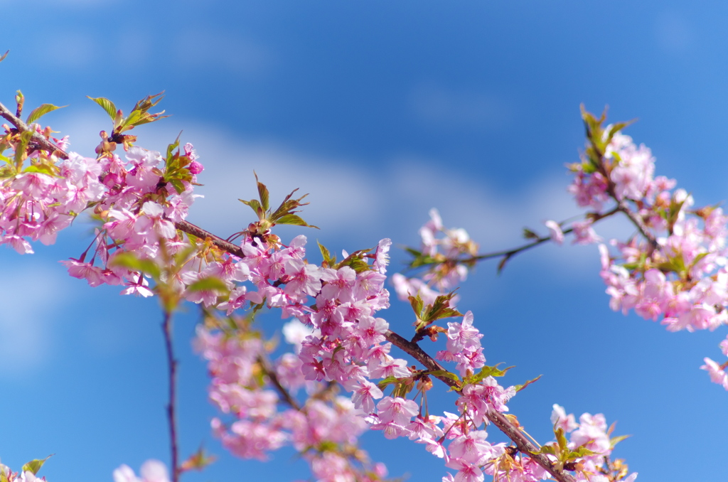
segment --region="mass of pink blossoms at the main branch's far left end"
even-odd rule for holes
[[[6,136],[11,134],[6,126]],[[67,137],[54,141],[61,149],[68,145]],[[34,151],[23,157],[23,146],[16,144],[17,163],[8,162],[0,172],[0,244],[33,253],[28,239],[52,244],[79,213],[93,208],[100,223],[94,245],[79,258],[63,261],[69,274],[92,286],[124,285],[124,294],[150,296],[140,271],[113,260],[120,253],[134,253],[161,262],[160,240],[174,251],[185,245],[174,223],[186,218],[197,197],[193,189],[202,165],[191,144],[183,153],[174,151],[177,146],[170,146],[166,158],[135,146],[122,159],[111,152],[89,158]]]

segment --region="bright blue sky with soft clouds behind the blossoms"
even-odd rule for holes
[[[195,144],[205,199],[190,220],[220,234],[250,222],[236,199],[253,196],[255,169],[274,197],[311,193],[306,220],[322,229],[309,242],[414,245],[437,207],[483,250],[509,248],[522,226],[579,212],[563,167],[583,145],[579,103],[638,118],[627,133],[698,204],[728,198],[724,2],[0,0],[0,11],[0,51],[11,50],[0,100],[20,89],[28,106],[68,104],[44,120],[90,154],[108,125],[84,95],[130,108],[165,90],[173,116],[139,143],[161,150],[182,130]],[[33,256],[0,250],[0,457],[18,467],[55,453],[42,472],[52,482],[167,459],[157,305],[66,275],[57,261],[84,250],[86,229]],[[532,435],[548,439],[553,403],[604,413],[633,435],[616,455],[639,481],[724,480],[706,448],[724,446],[728,394],[697,368],[719,359],[725,333],[666,333],[612,312],[595,247],[547,246],[494,272],[479,266],[460,306],[488,362],[518,366],[506,382],[544,375],[510,403]],[[405,331],[408,310],[393,304],[384,317]],[[187,480],[304,477],[290,452],[272,468],[210,436],[205,368],[187,341],[196,321],[189,307],[177,324],[183,450],[204,442],[221,460]],[[365,441],[392,475],[445,473],[421,446]]]

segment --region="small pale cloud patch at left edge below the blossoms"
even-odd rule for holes
[[[22,269],[6,267],[0,278],[0,373],[23,373],[47,359],[52,320],[63,304],[58,274],[23,259]]]

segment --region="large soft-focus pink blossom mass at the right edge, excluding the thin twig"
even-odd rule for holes
[[[660,320],[669,331],[713,331],[727,324],[728,216],[716,206],[695,208],[687,191],[675,189],[675,180],[655,177],[652,152],[620,133],[624,125],[602,127],[604,116],[588,113],[584,119],[587,149],[582,162],[569,166],[569,191],[593,211],[573,226],[577,240],[596,242],[585,227],[614,213],[628,216],[638,232],[612,240],[611,250],[599,245],[609,306]],[[615,205],[607,209],[610,200]],[[713,382],[728,390],[725,366],[707,358],[705,363]]]

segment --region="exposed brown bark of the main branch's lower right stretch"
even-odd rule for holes
[[[419,361],[419,363],[422,363],[422,365],[424,365],[428,370],[443,370],[443,367],[440,366],[440,363],[438,363],[437,360],[432,358],[430,355],[427,355],[427,352],[420,348],[418,344],[407,341],[402,336],[397,335],[397,333],[393,331],[387,331],[387,334],[385,336],[387,337],[387,341],[402,349],[403,352],[407,353],[415,360]],[[457,382],[455,382],[453,379],[449,379],[446,376],[433,376],[440,380],[440,382],[448,385],[448,387],[454,387],[457,389],[462,388],[459,387]],[[501,414],[499,411],[488,410],[486,412],[486,417],[503,433],[505,433],[505,435],[510,438],[510,440],[513,440],[513,443],[515,443],[515,446],[518,447],[519,451],[534,459],[534,461],[538,465],[543,467],[544,470],[550,473],[556,481],[576,482],[576,479],[573,475],[566,473],[563,470],[559,470],[544,454],[539,454],[539,447],[531,443],[526,435],[524,435],[523,432],[521,432],[521,430],[519,430],[518,427],[515,426],[515,424],[511,423],[505,417],[505,415]]]

